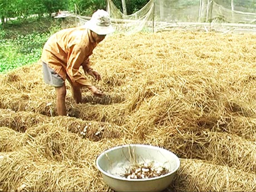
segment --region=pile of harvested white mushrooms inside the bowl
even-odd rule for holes
[[[147,179],[155,178],[169,173],[168,169],[163,166],[153,166],[154,163],[144,163],[131,166],[125,172],[125,178],[127,179]]]

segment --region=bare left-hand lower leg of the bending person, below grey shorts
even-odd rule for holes
[[[55,87],[56,90],[56,108],[58,115],[67,115],[67,109],[65,104],[65,97],[66,97],[66,86],[65,84],[61,87]]]

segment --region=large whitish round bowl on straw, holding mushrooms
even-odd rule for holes
[[[169,170],[168,174],[148,179],[127,179],[121,175],[130,166],[157,163]],[[151,145],[122,145],[102,152],[96,160],[105,183],[115,191],[161,191],[174,179],[180,166],[179,158],[168,150]]]

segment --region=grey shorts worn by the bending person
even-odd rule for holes
[[[48,85],[53,87],[61,87],[64,85],[64,80],[58,75],[52,68],[50,68],[45,62],[43,62],[43,80]]]

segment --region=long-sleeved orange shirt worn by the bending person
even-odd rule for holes
[[[91,86],[79,68],[87,70],[90,67],[89,56],[97,43],[93,40],[91,32],[85,27],[62,29],[53,34],[43,47],[41,60],[63,80],[66,76],[71,81],[84,86]]]

